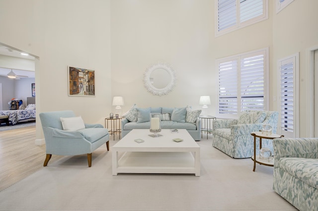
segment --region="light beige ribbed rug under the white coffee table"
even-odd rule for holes
[[[273,167],[257,164],[253,172],[250,158],[230,158],[213,148],[211,139],[197,143],[200,177],[112,176],[111,150],[102,146],[93,153],[90,168],[86,155],[64,157],[1,191],[0,210],[296,210],[272,190]]]

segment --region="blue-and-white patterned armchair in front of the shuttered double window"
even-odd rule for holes
[[[261,130],[263,124],[270,124],[272,133],[276,133],[277,122],[277,111],[241,112],[239,119],[215,120],[212,146],[232,158],[250,158],[254,147],[251,132]],[[272,140],[262,139],[262,147],[273,152]],[[259,141],[256,143],[256,154],[258,152]]]

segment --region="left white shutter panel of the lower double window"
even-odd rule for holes
[[[238,61],[219,64],[219,113],[238,113]]]

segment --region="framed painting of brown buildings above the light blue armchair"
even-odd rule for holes
[[[69,96],[95,96],[95,71],[68,67]]]

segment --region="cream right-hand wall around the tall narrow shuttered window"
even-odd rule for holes
[[[318,1],[295,0],[285,9],[273,14],[273,48],[271,51],[271,93],[278,96],[278,63],[277,60],[299,53],[299,111],[300,111],[300,137],[309,137],[307,128],[310,127],[310,118],[314,115],[307,105],[312,102],[313,96],[308,90],[312,77],[306,49],[318,46]],[[275,10],[275,5],[272,6]],[[274,110],[279,110],[279,102],[272,101]]]

